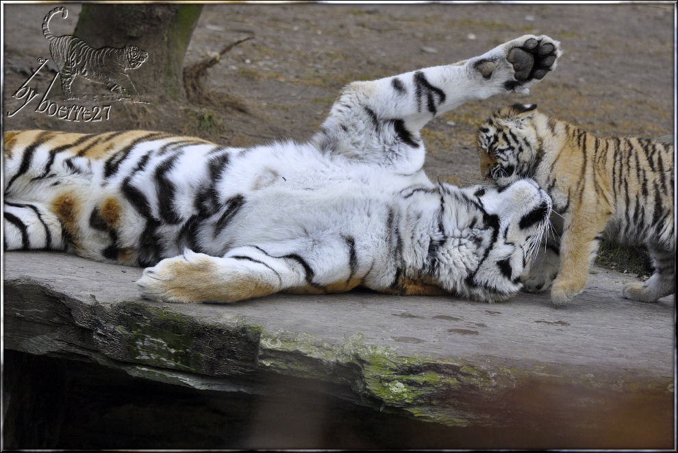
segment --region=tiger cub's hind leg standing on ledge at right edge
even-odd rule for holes
[[[648,244],[655,272],[644,283],[631,282],[623,287],[626,299],[640,302],[657,302],[664,296],[675,292],[676,271],[675,253],[657,245]]]

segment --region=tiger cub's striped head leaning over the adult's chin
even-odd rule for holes
[[[536,156],[531,118],[535,104],[514,104],[492,114],[477,134],[480,173],[504,187],[530,175]]]

